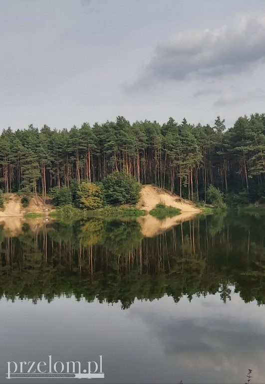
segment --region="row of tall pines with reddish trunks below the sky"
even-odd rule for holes
[[[0,136],[0,188],[5,192],[46,193],[71,180],[101,181],[125,170],[142,183],[155,183],[183,197],[205,199],[209,184],[224,192],[244,192],[256,201],[265,190],[265,114],[239,117],[226,130],[193,125],[172,117],[130,124],[116,121],[83,123],[70,130],[40,130],[29,125]]]

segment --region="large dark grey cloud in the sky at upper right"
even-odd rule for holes
[[[238,15],[231,26],[180,32],[157,45],[127,91],[190,77],[216,78],[254,68],[265,59],[265,15]]]

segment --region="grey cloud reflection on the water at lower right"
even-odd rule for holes
[[[208,296],[208,299],[211,298]],[[251,318],[247,313],[243,315],[242,309],[246,304],[243,301],[236,302],[235,297],[232,299],[235,310],[233,316],[225,313],[227,307],[222,307],[224,304],[218,305],[218,296],[215,295],[214,300],[206,305],[200,299],[198,307],[193,302],[193,311],[183,299],[174,313],[167,312],[165,315],[162,312],[160,316],[152,309],[141,312],[135,310],[134,313],[148,324],[149,332],[159,340],[165,355],[176,360],[176,370],[186,370],[186,375],[191,378],[188,382],[201,382],[198,380],[200,372],[207,375],[207,382],[224,382],[221,381],[224,377],[227,377],[227,382],[234,382],[246,366],[255,370],[255,382],[260,382],[264,377],[265,353],[262,317],[257,315]],[[255,306],[254,303],[252,305]],[[254,309],[256,314],[257,308]],[[221,372],[221,376],[217,376],[217,372]]]

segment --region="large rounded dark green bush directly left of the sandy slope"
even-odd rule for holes
[[[104,199],[108,204],[136,204],[141,184],[126,172],[109,174],[102,182]]]

